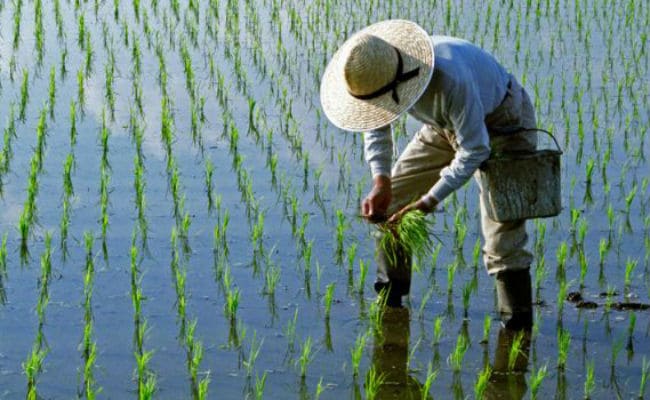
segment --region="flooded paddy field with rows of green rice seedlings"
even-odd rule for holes
[[[495,54],[564,150],[530,335],[500,330],[474,182],[407,307],[375,302],[362,136],[319,84],[388,18]],[[0,398],[643,397],[649,24],[638,0],[0,2]]]

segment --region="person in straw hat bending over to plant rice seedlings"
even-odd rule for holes
[[[362,131],[373,188],[361,204],[370,222],[405,213],[432,212],[467,182],[491,151],[532,150],[530,99],[492,55],[467,41],[429,36],[405,20],[375,23],[350,37],[330,60],[321,103],[341,129]],[[404,112],[423,123],[391,170],[390,124]],[[480,182],[479,182],[480,184]],[[525,221],[499,223],[481,202],[487,272],[496,278],[498,308],[506,327],[532,324]],[[410,255],[377,246],[375,290],[400,306],[409,293]]]

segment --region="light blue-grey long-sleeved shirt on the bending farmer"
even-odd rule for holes
[[[438,202],[460,188],[490,156],[485,117],[503,100],[509,73],[496,59],[473,44],[448,36],[432,36],[433,76],[424,94],[408,110],[422,123],[455,133],[458,151],[440,172],[440,180],[426,197]],[[390,176],[391,127],[364,134],[366,161],[373,177]]]

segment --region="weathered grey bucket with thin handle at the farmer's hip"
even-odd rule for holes
[[[501,152],[481,165],[481,198],[493,221],[552,217],[562,211],[560,145],[543,129],[517,133],[528,131],[547,133],[557,149]]]

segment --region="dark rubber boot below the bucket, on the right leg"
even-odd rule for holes
[[[530,330],[533,326],[533,309],[528,268],[499,272],[496,276],[496,288],[503,327],[511,330]]]

